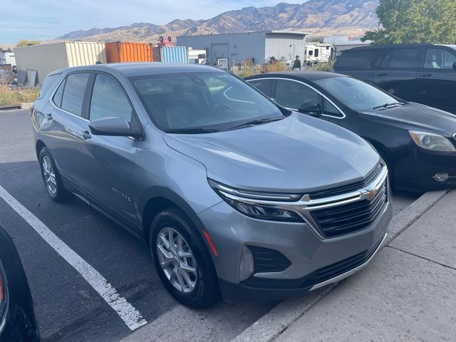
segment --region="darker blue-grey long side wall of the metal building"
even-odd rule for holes
[[[264,62],[266,31],[245,32],[228,34],[209,34],[206,36],[179,36],[177,45],[190,46],[194,50],[205,49],[209,64],[214,65],[217,56],[217,48],[224,45],[224,51],[228,51],[229,67],[236,63],[242,63],[246,58],[254,58],[256,64]],[[228,50],[226,50],[226,48]],[[214,55],[215,53],[215,55]],[[225,54],[225,52],[224,52]]]

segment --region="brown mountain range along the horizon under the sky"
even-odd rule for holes
[[[245,7],[207,20],[176,19],[166,25],[135,23],[115,28],[91,28],[67,33],[56,41],[147,41],[160,36],[190,36],[283,29],[314,35],[362,34],[378,27],[378,0],[309,0],[304,4]]]

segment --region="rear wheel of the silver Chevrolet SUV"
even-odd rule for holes
[[[49,197],[56,202],[66,202],[71,198],[71,192],[63,187],[60,173],[58,173],[56,162],[46,147],[43,147],[39,157],[41,176],[43,177],[44,187]]]

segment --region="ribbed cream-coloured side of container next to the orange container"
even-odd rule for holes
[[[91,66],[96,61],[106,63],[105,43],[66,41],[68,66]]]

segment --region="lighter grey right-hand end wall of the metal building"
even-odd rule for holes
[[[276,59],[294,59],[299,55],[301,60],[304,58],[306,45],[305,36],[290,33],[266,33],[266,50],[264,58],[275,57]]]

